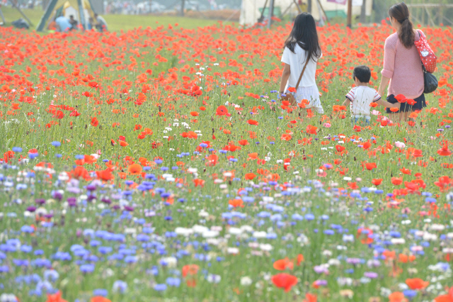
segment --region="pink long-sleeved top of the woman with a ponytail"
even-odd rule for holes
[[[421,30],[417,30],[415,40],[420,39]],[[423,68],[417,47],[404,47],[398,38],[398,33],[389,35],[384,46],[384,69],[381,74],[390,78],[388,95],[403,94],[408,99],[415,99],[423,94],[425,82]]]

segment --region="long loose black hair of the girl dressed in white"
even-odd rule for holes
[[[291,33],[285,41],[285,47],[294,52],[296,43],[307,52],[306,60],[313,59],[316,61],[321,57],[321,47],[318,41],[318,32],[313,16],[309,13],[300,13],[296,20]],[[295,53],[295,52],[294,52]]]

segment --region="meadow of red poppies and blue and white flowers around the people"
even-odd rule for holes
[[[393,30],[319,28],[321,115],[290,29],[0,28],[0,301],[452,302],[452,29],[423,112],[354,126]]]

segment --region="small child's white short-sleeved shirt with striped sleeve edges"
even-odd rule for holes
[[[376,90],[368,86],[357,86],[346,94],[346,98],[351,101],[351,114],[369,117],[369,105],[375,101],[379,101],[381,96],[379,96]]]

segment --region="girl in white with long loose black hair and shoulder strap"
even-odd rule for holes
[[[315,81],[316,65],[321,57],[314,18],[309,13],[301,13],[294,20],[294,26],[285,41],[285,50],[282,55],[285,67],[279,92],[280,94],[292,93],[299,105],[302,104],[302,100],[309,101],[309,104],[304,104],[305,108],[312,108],[318,113],[324,112]],[[302,80],[297,91],[294,91],[302,70],[304,70]]]

